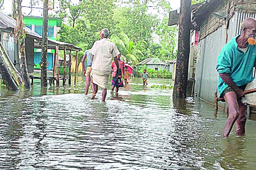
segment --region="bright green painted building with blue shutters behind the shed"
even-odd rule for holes
[[[35,31],[36,33],[42,36],[43,17],[24,16],[23,22],[27,28],[31,29],[32,31]],[[56,40],[57,27],[61,27],[61,18],[49,18],[48,19],[48,38],[49,39]],[[42,51],[41,48],[34,49],[35,69],[40,69],[41,51]],[[52,70],[55,50],[48,49],[47,52],[48,52],[47,53],[48,70]]]

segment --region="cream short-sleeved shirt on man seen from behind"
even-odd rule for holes
[[[111,72],[112,58],[120,54],[116,45],[107,38],[94,42],[90,53],[94,55],[92,69],[107,73]]]

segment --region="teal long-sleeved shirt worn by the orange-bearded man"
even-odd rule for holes
[[[216,70],[218,73],[227,73],[237,86],[246,85],[253,81],[253,67],[256,65],[256,45],[248,45],[246,53],[238,49],[236,38],[228,42],[218,56]],[[218,91],[220,95],[228,85],[219,76]]]

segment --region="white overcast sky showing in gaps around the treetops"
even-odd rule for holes
[[[22,6],[29,6],[29,1],[30,0],[23,0],[22,1]],[[73,2],[76,1],[76,0],[73,0]],[[170,3],[171,3],[171,6],[172,6],[172,9],[175,10],[177,8],[180,7],[180,0],[169,0]],[[3,4],[3,12],[6,13],[6,14],[11,14],[12,12],[12,0],[4,0],[4,4]],[[55,6],[58,6],[58,4],[55,4]],[[149,8],[150,12],[152,14],[157,14],[157,10],[155,10],[154,8]],[[23,7],[22,8],[22,12],[24,15],[27,15],[29,14],[30,12],[30,8],[25,8]],[[49,14],[52,13],[52,11],[49,11]],[[32,11],[32,16],[37,16],[37,17],[41,17],[43,15],[43,10],[40,10],[40,9],[34,9]]]

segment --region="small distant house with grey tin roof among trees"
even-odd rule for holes
[[[162,62],[158,58],[147,58],[139,63],[139,65],[147,65],[147,68],[160,71],[167,70],[169,71],[169,64]]]

